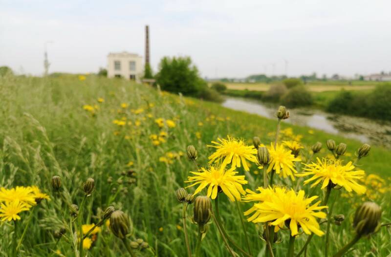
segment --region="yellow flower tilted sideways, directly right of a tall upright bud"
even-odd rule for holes
[[[287,178],[290,176],[292,180],[295,180],[295,177],[293,177],[293,173],[297,173],[295,161],[300,161],[301,159],[292,155],[291,150],[286,150],[279,144],[274,148],[273,143],[271,143],[268,149],[270,153],[270,163],[267,172],[269,173],[274,169],[280,177]]]

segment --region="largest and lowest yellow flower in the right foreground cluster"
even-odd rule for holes
[[[311,232],[318,236],[325,234],[320,230],[316,218],[326,218],[326,213],[320,210],[327,206],[319,206],[321,201],[311,205],[311,202],[318,198],[317,196],[304,198],[303,190],[296,194],[293,189],[286,190],[282,187],[276,187],[273,191],[270,199],[254,205],[258,216],[252,222],[271,222],[271,225],[276,226],[276,230],[283,228],[287,222],[291,236],[298,235],[300,227],[307,235]]]

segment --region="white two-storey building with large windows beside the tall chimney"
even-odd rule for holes
[[[107,56],[107,76],[141,81],[143,75],[143,57],[128,52],[109,53]]]

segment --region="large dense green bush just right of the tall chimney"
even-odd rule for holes
[[[163,57],[159,64],[156,82],[160,88],[186,96],[197,96],[206,92],[206,82],[198,75],[198,69],[190,57]]]

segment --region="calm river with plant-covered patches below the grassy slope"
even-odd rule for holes
[[[266,118],[274,118],[278,108],[277,105],[257,100],[231,97],[226,98],[222,106],[258,114]],[[329,114],[311,108],[289,109],[289,113],[289,119],[284,120],[284,122],[323,130],[346,138],[354,138],[363,143],[391,148],[391,122]]]

